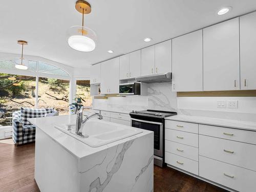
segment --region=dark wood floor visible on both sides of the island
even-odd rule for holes
[[[35,144],[0,143],[0,192],[39,191],[34,180]],[[226,190],[175,169],[154,167],[154,192],[224,192]],[[71,191],[72,192],[72,191]],[[118,191],[119,192],[119,191]]]

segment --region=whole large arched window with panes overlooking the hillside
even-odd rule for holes
[[[0,127],[12,125],[12,112],[21,107],[55,108],[59,115],[69,114],[69,94],[70,76],[59,67],[29,60],[28,70],[18,70],[14,60],[0,61]]]

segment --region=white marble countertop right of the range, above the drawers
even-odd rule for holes
[[[166,117],[165,119],[175,120],[175,121],[184,121],[184,122],[190,122],[190,123],[215,125],[215,126],[224,126],[224,127],[230,127],[233,129],[256,131],[256,122],[250,122],[250,121],[238,121],[238,120],[231,120],[231,119],[218,119],[218,118],[190,116],[190,115],[174,115],[174,116]]]

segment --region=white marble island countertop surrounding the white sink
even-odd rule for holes
[[[59,143],[62,147],[64,147],[69,153],[73,154],[77,158],[83,158],[88,155],[97,153],[99,151],[105,150],[111,146],[116,146],[123,142],[129,141],[134,138],[139,138],[146,134],[151,134],[153,132],[143,130],[143,133],[137,134],[132,137],[128,137],[125,139],[121,139],[119,141],[115,141],[103,146],[99,147],[91,147],[81,141],[69,136],[66,133],[61,132],[56,129],[55,125],[60,124],[73,124],[76,122],[76,115],[61,115],[61,116],[53,116],[53,117],[40,117],[40,118],[31,118],[29,119],[31,123],[36,126],[36,129],[40,129],[45,132],[48,136],[50,136],[55,142]],[[135,128],[137,129],[137,128]]]

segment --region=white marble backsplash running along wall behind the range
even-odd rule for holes
[[[217,108],[217,100],[233,100],[239,102],[235,110]],[[245,102],[246,101],[246,102]],[[147,96],[110,97],[94,99],[93,109],[129,113],[132,110],[175,111],[182,115],[194,115],[211,118],[256,121],[256,97],[187,97],[177,98],[172,92],[170,82],[148,84]]]

